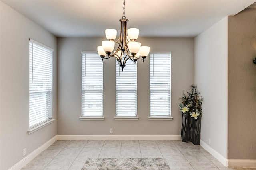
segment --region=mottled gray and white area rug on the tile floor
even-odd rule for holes
[[[170,170],[165,158],[88,158],[82,170]]]

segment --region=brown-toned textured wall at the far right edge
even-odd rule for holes
[[[256,160],[256,10],[228,18],[228,159]]]

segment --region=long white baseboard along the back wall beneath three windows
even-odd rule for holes
[[[57,140],[181,140],[180,135],[57,135]]]

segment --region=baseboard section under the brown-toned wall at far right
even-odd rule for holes
[[[256,160],[228,159],[228,168],[256,168]]]

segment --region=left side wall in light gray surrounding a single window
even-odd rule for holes
[[[29,38],[54,49],[53,117],[56,118],[57,39],[0,2],[0,169],[6,170],[57,134],[57,122],[28,135]]]

